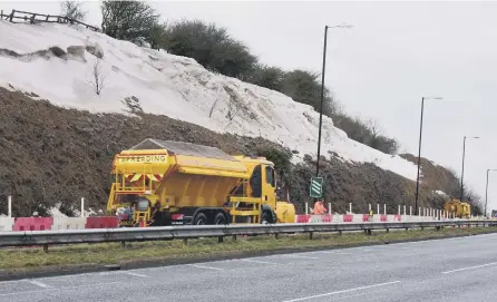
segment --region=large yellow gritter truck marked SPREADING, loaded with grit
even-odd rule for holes
[[[293,223],[274,164],[208,146],[147,138],[116,155],[107,210],[121,226]]]

